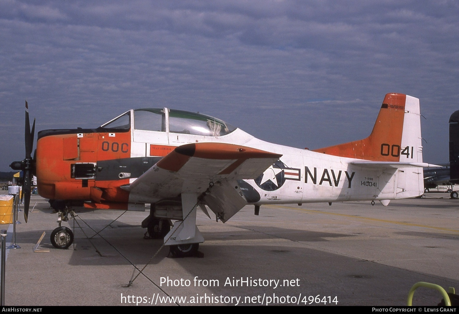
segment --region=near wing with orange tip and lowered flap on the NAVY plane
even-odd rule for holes
[[[282,155],[255,148],[196,143],[179,146],[123,189],[129,200],[153,203],[182,193],[202,193],[206,205],[225,222],[246,205],[237,180],[256,179]]]

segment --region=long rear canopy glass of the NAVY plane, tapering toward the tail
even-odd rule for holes
[[[169,111],[169,132],[221,136],[235,129],[228,123],[201,113],[173,109]]]

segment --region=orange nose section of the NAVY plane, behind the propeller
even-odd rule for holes
[[[84,131],[87,131],[84,133]],[[77,133],[82,132],[82,133]],[[36,174],[40,196],[93,202],[128,202],[129,184],[119,160],[129,160],[130,132],[45,130],[37,140]],[[103,161],[104,168],[98,161]],[[97,175],[108,171],[112,177]]]

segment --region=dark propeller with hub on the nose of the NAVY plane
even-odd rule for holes
[[[24,130],[24,141],[26,148],[26,157],[22,161],[12,162],[10,164],[11,169],[13,170],[22,170],[23,171],[23,181],[22,181],[22,196],[24,197],[24,220],[27,223],[28,210],[30,205],[30,194],[31,189],[31,179],[35,173],[35,159],[32,158],[32,149],[34,147],[34,133],[35,133],[35,119],[32,124],[32,130],[30,129],[30,120],[28,115],[28,104],[26,101],[26,113],[25,113],[25,130]]]

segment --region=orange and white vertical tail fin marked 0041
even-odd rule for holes
[[[419,99],[386,94],[367,138],[314,151],[371,161],[422,163]]]

